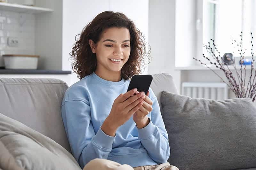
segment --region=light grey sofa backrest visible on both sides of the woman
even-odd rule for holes
[[[178,93],[169,74],[153,74],[151,89],[161,106],[161,92]],[[0,78],[0,113],[52,138],[69,152],[61,117],[61,101],[68,85],[58,79]]]

